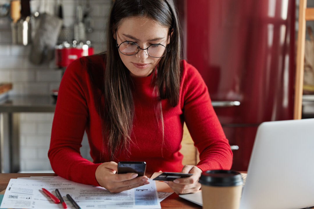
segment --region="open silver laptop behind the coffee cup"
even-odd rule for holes
[[[196,195],[202,196],[201,192]],[[195,202],[196,198],[192,200]],[[314,206],[314,119],[260,124],[240,209],[311,206]]]

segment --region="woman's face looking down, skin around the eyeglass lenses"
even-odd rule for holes
[[[162,44],[166,46],[170,42],[168,37],[169,28],[162,26],[147,17],[128,17],[122,20],[113,37],[118,45],[123,41],[133,41],[142,49],[146,49],[152,44]],[[153,47],[153,46],[152,46]],[[118,50],[118,49],[117,49]],[[130,71],[131,76],[149,76],[160,58],[148,55],[147,50],[139,50],[136,55],[124,55],[119,51],[123,64]]]

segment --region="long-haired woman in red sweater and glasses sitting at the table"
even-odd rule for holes
[[[146,161],[147,172],[192,173],[167,182],[176,193],[200,189],[202,170],[230,169],[232,152],[198,71],[180,61],[172,0],[116,0],[107,51],[75,60],[65,71],[48,156],[57,175],[121,192],[146,176],[116,174],[118,161]],[[200,152],[182,165],[183,123]],[[84,130],[93,162],[79,152]]]

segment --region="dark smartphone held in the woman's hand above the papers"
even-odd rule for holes
[[[146,162],[144,161],[120,161],[118,162],[117,174],[137,173],[138,176],[145,175]]]

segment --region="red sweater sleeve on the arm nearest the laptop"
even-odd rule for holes
[[[232,151],[199,72],[184,60],[183,114],[187,128],[200,153],[198,167],[205,170],[230,170]]]

